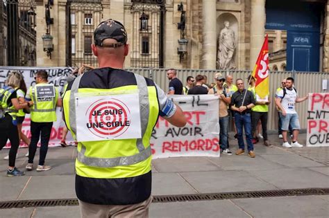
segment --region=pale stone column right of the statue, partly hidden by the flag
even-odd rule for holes
[[[255,66],[265,36],[265,0],[251,0],[250,68]]]

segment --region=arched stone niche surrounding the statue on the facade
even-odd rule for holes
[[[231,30],[233,30],[233,32],[235,33],[235,51],[234,51],[234,55],[233,55],[233,61],[235,62],[236,69],[238,69],[239,66],[238,66],[238,60],[237,60],[237,53],[239,51],[239,49],[238,49],[239,23],[237,21],[237,17],[235,17],[235,15],[228,13],[228,12],[224,12],[217,17],[217,52],[218,52],[218,48],[219,48],[219,45],[218,45],[219,34],[221,33],[221,30],[225,27],[224,26],[225,21],[228,21],[230,23],[229,28]]]

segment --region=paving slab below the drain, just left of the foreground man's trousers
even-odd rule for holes
[[[57,217],[70,217],[79,218],[81,217],[79,206],[60,206],[60,207],[47,207],[37,208],[33,218],[57,218]]]

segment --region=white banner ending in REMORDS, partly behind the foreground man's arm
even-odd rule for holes
[[[159,117],[151,137],[153,158],[219,156],[219,98],[214,95],[169,96],[187,118],[185,127]]]

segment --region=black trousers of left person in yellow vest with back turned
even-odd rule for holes
[[[41,135],[39,165],[44,165],[48,152],[51,127],[53,127],[53,122],[33,122],[31,120],[31,143],[28,146],[28,163],[33,163],[35,152],[37,151],[37,143]]]

